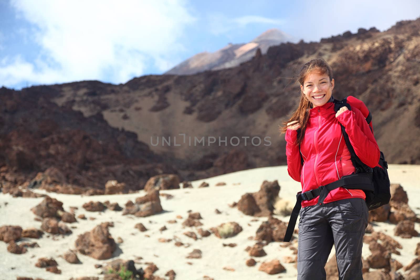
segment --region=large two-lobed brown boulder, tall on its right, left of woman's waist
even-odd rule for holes
[[[264,181],[260,190],[253,194],[244,194],[238,201],[238,209],[246,215],[264,217],[273,214],[273,203],[278,197],[280,186],[277,180]]]

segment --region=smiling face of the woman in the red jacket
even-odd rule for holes
[[[330,81],[327,73],[310,73],[300,85],[300,89],[313,107],[322,106],[330,99],[334,88],[334,79]]]

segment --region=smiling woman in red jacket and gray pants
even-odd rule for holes
[[[298,78],[299,107],[281,130],[286,133],[287,170],[301,182],[302,193],[355,172],[340,123],[360,160],[369,167],[378,164],[378,144],[362,113],[347,107],[334,111],[332,77],[323,59],[303,65]],[[302,201],[297,279],[326,279],[324,267],[333,244],[339,279],[363,279],[362,241],[368,222],[365,197],[362,190],[342,186],[330,191],[321,204],[319,196]]]

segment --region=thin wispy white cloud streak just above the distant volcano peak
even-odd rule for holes
[[[232,30],[244,28],[249,24],[270,24],[282,25],[285,21],[276,18],[265,18],[262,16],[241,16],[228,18],[221,13],[213,13],[207,17],[209,31],[214,35],[226,34]]]

